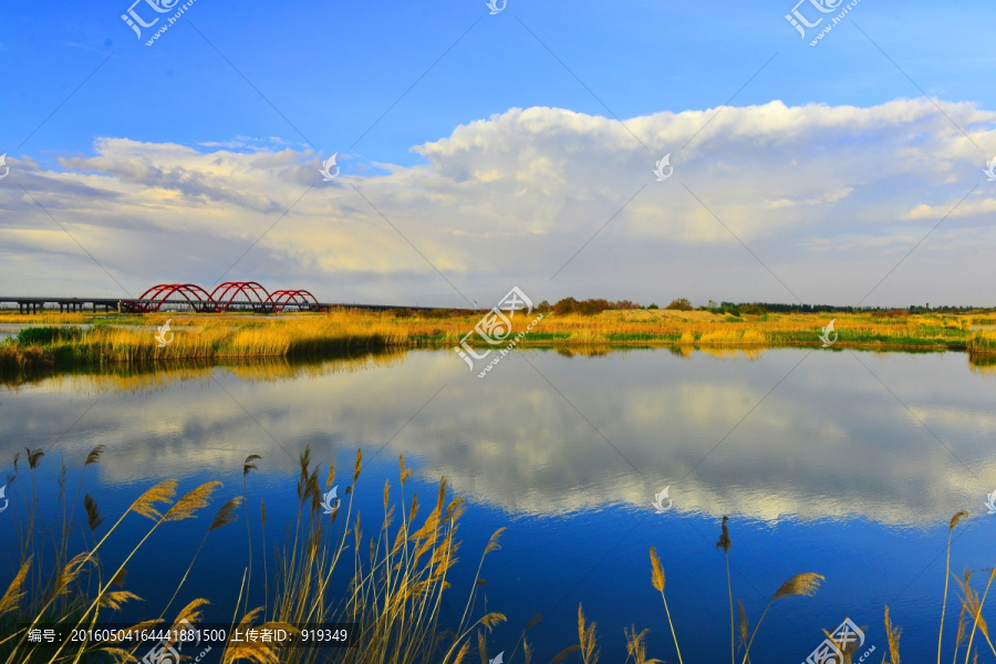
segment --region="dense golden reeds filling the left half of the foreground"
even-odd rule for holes
[[[30,449],[24,452],[23,458],[20,454],[15,457],[15,473],[9,483],[20,491],[20,499],[17,501],[20,507],[13,515],[9,515],[15,518],[19,549],[13,580],[0,596],[0,662],[89,662],[96,656],[110,656],[118,663],[136,662],[143,656],[144,650],[148,650],[147,645],[143,652],[136,652],[142,649],[141,644],[125,647],[124,643],[121,647],[105,647],[100,652],[90,645],[63,646],[53,651],[29,642],[27,631],[40,623],[54,624],[63,630],[94,627],[114,621],[117,611],[141,601],[142,598],[126,589],[128,563],[157,529],[166,528],[174,521],[197,517],[209,506],[214,495],[221,489],[221,484],[205,483],[177,499],[177,481],[159,481],[145,490],[110,526],[105,523],[96,500],[85,495],[85,526],[82,532],[74,533],[71,525],[77,522],[74,511],[83,473],[87,466],[100,463],[103,447],[95,448],[86,457],[72,500],[68,499],[65,491],[66,473],[63,467],[58,479],[59,501],[63,509],[62,525],[58,529],[53,529],[52,523],[42,517],[38,501],[35,473],[44,453]],[[247,457],[242,466],[243,481],[250,479],[250,473],[258,469],[260,463],[258,455]],[[443,595],[450,587],[449,572],[457,562],[457,532],[464,509],[463,501],[459,498],[448,498],[446,481],[442,480],[435,504],[429,506],[425,516],[419,513],[423,510],[415,495],[411,496],[406,508],[405,485],[412,471],[405,467],[404,457],[400,457],[400,502],[392,499],[390,484],[385,484],[383,521],[376,532],[366,536],[361,528],[359,513],[353,512],[353,497],[361,468],[362,455],[357,450],[352,481],[341,506],[330,518],[321,509],[321,496],[334,483],[335,469],[332,467],[326,473],[321,473],[311,461],[310,449],[305,448],[300,457],[295,522],[277,548],[273,561],[267,560],[263,504],[260,504],[260,520],[256,528],[249,525],[251,511],[246,509],[242,512],[250,537],[252,531],[257,531],[263,541],[264,604],[256,608],[248,605],[252,580],[247,567],[232,627],[239,626],[242,631],[248,626],[293,631],[295,624],[353,622],[360,632],[351,637],[361,645],[334,651],[336,662],[465,662],[473,634],[489,631],[505,621],[502,614],[481,612],[478,606],[484,558],[500,549],[499,538],[504,529],[492,536],[481,556],[477,573],[467,589],[463,618],[457,625],[447,625],[448,629],[444,630],[440,625]],[[208,536],[236,520],[240,508],[245,506],[245,494],[243,485],[242,495],[230,497],[217,510],[207,525],[199,546],[186,563],[186,570],[173,596],[157,616],[136,622],[132,627],[135,633],[154,625],[177,625],[181,620],[196,623],[203,618],[201,611],[208,600],[197,598],[180,609],[174,619],[165,619]],[[123,544],[122,540],[127,538],[118,537],[122,523],[126,519],[134,521],[142,518],[147,519],[151,526],[139,536],[137,543]],[[101,553],[110,547],[122,546],[127,548],[118,548],[114,557],[123,559],[122,562],[105,568]],[[74,554],[73,549],[76,550]],[[176,560],[179,570],[183,569],[180,556],[172,556],[170,560]],[[272,578],[267,572],[271,566]],[[168,572],[157,570],[157,573]],[[349,581],[345,593],[342,592],[342,574]],[[529,653],[525,631],[520,643],[523,653]],[[269,644],[247,647],[245,644],[230,642],[221,653],[221,662],[297,664],[317,662],[325,654],[320,649],[281,650]]]

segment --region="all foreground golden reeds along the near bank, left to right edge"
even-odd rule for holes
[[[10,559],[11,569],[7,570],[0,580],[6,591],[0,595],[0,661],[4,664],[71,664],[75,662],[113,662],[127,664],[138,662],[149,643],[142,636],[143,631],[158,627],[176,630],[189,629],[205,622],[205,613],[211,601],[208,598],[195,595],[183,608],[176,602],[197,563],[197,559],[207,543],[208,537],[215,530],[225,528],[240,518],[245,521],[248,536],[248,551],[245,559],[246,566],[239,570],[240,564],[235,562],[229,571],[235,578],[241,574],[242,582],[236,600],[236,610],[232,614],[228,634],[239,627],[241,632],[247,629],[273,630],[283,629],[290,633],[298,633],[295,625],[305,623],[351,623],[349,639],[355,643],[354,647],[322,649],[281,647],[276,642],[257,642],[249,645],[245,641],[237,641],[235,636],[228,636],[218,644],[221,651],[221,664],[235,664],[236,662],[250,662],[252,664],[319,664],[319,662],[336,662],[340,664],[376,664],[383,662],[404,662],[407,664],[465,664],[474,660],[473,650],[478,651],[481,662],[502,662],[502,655],[507,654],[510,664],[522,661],[531,664],[535,655],[535,644],[539,636],[536,632],[529,632],[542,621],[542,615],[536,614],[522,626],[520,635],[515,640],[513,646],[491,658],[489,635],[495,627],[508,621],[507,616],[498,611],[490,610],[487,600],[483,596],[484,587],[481,572],[485,559],[489,554],[501,549],[500,538],[506,528],[499,528],[488,540],[487,546],[479,556],[471,556],[470,564],[477,564],[476,573],[469,588],[460,583],[463,588],[453,589],[449,579],[450,570],[457,564],[457,551],[460,548],[458,536],[460,520],[464,516],[465,505],[460,497],[452,496],[445,478],[438,485],[435,496],[435,505],[429,501],[422,507],[417,496],[411,495],[411,507],[407,507],[405,483],[413,470],[406,467],[404,456],[398,457],[398,483],[392,486],[386,480],[383,488],[384,517],[380,526],[376,521],[374,528],[365,532],[360,527],[360,513],[354,509],[355,491],[360,487],[359,479],[363,468],[362,450],[356,450],[355,463],[352,471],[352,481],[346,487],[342,499],[336,498],[331,506],[331,497],[335,497],[336,481],[335,465],[331,464],[328,473],[324,473],[319,464],[312,461],[310,448],[300,454],[300,475],[297,481],[298,507],[297,515],[291,517],[293,526],[284,528],[281,539],[274,530],[279,525],[267,527],[267,511],[262,500],[259,502],[259,511],[256,506],[249,505],[247,486],[250,473],[259,470],[264,465],[264,459],[259,455],[249,455],[242,465],[241,492],[224,491],[220,481],[208,481],[187,494],[177,497],[178,483],[176,479],[165,479],[146,489],[123,515],[114,519],[105,520],[101,513],[97,500],[90,494],[83,498],[83,515],[77,512],[79,498],[83,485],[83,475],[91,465],[98,465],[104,453],[104,446],[98,445],[86,456],[80,473],[76,487],[66,483],[66,468],[63,464],[59,474],[59,500],[54,522],[42,513],[38,495],[39,478],[38,468],[45,456],[41,448],[25,448],[22,459],[20,453],[14,456],[14,475],[9,478],[14,492],[10,501],[13,505],[10,518],[15,520],[17,533],[13,548],[17,549],[17,558]],[[27,464],[27,470],[21,466]],[[255,475],[255,474],[253,474]],[[324,481],[323,479],[324,478]],[[349,478],[349,475],[346,475]],[[333,486],[334,485],[334,486]],[[331,487],[331,490],[330,490]],[[66,490],[69,489],[69,490]],[[376,490],[376,489],[375,489]],[[128,590],[128,574],[126,568],[133,557],[143,548],[153,531],[163,527],[169,529],[170,523],[193,519],[201,516],[207,510],[216,494],[228,494],[228,499],[218,508],[214,519],[205,528],[204,538],[199,547],[189,556],[189,551],[177,551],[170,557],[175,569],[170,572],[179,572],[186,566],[173,596],[162,604],[162,598],[147,598],[145,601]],[[331,507],[330,507],[331,506]],[[329,511],[331,509],[331,511]],[[424,513],[424,516],[421,516]],[[81,518],[76,518],[79,517]],[[328,516],[331,515],[331,516]],[[117,554],[106,556],[106,549],[112,546],[122,547],[121,533],[115,532],[126,519],[135,522],[142,518],[146,521],[146,535],[137,544],[124,544]],[[988,573],[984,588],[973,583],[973,575],[988,570],[965,571],[958,578],[951,570],[952,533],[958,522],[968,518],[967,511],[959,511],[948,523],[947,528],[947,564],[945,566],[945,588],[940,606],[941,624],[937,636],[937,664],[941,664],[943,637],[945,634],[945,614],[948,605],[948,581],[955,579],[961,591],[961,599],[955,605],[957,613],[957,633],[954,637],[953,661],[958,661],[958,655],[964,649],[965,664],[968,664],[974,653],[975,662],[978,661],[979,651],[988,650],[996,655],[996,646],[989,639],[986,621],[983,618],[983,609],[986,604],[990,587],[996,579],[996,567]],[[113,521],[113,523],[112,523]],[[755,637],[760,631],[765,616],[771,605],[778,601],[790,601],[792,598],[809,598],[817,594],[824,578],[816,572],[802,572],[789,577],[774,594],[770,595],[759,618],[758,601],[750,602],[750,609],[737,599],[738,615],[734,616],[734,584],[729,573],[730,550],[733,547],[729,519],[723,518],[719,539],[716,548],[722,551],[726,562],[726,585],[729,599],[729,643],[730,664],[749,664],[750,652]],[[217,539],[212,538],[212,541]],[[114,540],[113,544],[108,540]],[[262,559],[253,562],[253,540],[261,544],[259,551]],[[191,546],[188,549],[193,549]],[[272,547],[272,553],[268,548]],[[128,551],[128,548],[131,550]],[[369,553],[367,553],[369,551]],[[126,552],[124,562],[116,563],[105,560],[117,560]],[[666,552],[666,549],[665,549]],[[189,558],[189,563],[187,559]],[[116,566],[116,567],[115,567]],[[262,570],[259,568],[262,567]],[[333,580],[336,570],[352,569],[349,579]],[[717,577],[722,573],[718,572]],[[253,577],[253,572],[262,572],[262,579]],[[671,608],[665,594],[665,569],[657,554],[656,547],[650,549],[649,587],[652,587],[661,595],[664,614],[644,615],[642,621],[650,622],[654,629],[663,633],[670,631],[671,641],[677,654],[678,664],[683,664],[678,633],[672,620]],[[138,569],[136,574],[148,574],[147,570]],[[157,569],[157,574],[164,574],[165,570]],[[981,574],[982,575],[982,574]],[[9,581],[7,579],[10,579]],[[344,582],[347,581],[347,582]],[[687,580],[686,580],[687,581]],[[698,580],[704,582],[704,580]],[[722,580],[717,579],[718,582]],[[272,583],[271,583],[272,582]],[[259,592],[250,592],[263,587],[262,595]],[[739,583],[737,584],[739,585]],[[979,592],[982,590],[982,592]],[[646,588],[650,591],[650,588]],[[166,591],[168,592],[168,590]],[[188,590],[185,593],[191,595]],[[250,594],[261,598],[261,605],[250,604]],[[457,606],[463,606],[463,615],[456,625],[448,624],[444,620],[444,595],[447,600],[455,599]],[[780,601],[779,601],[780,600]],[[217,601],[217,598],[216,598]],[[799,601],[799,600],[791,600]],[[136,604],[141,603],[141,606]],[[224,604],[222,604],[224,606]],[[172,611],[170,611],[172,609]],[[227,613],[229,606],[224,606]],[[604,611],[596,608],[595,611]],[[155,615],[158,612],[158,615]],[[723,603],[722,613],[726,613],[726,602]],[[144,615],[139,615],[144,614]],[[174,616],[175,618],[172,618]],[[667,630],[664,629],[666,620]],[[756,622],[754,622],[756,620]],[[124,622],[123,621],[127,621]],[[40,626],[58,627],[62,633],[74,630],[90,630],[100,633],[100,627],[108,623],[126,624],[127,627],[115,632],[113,641],[73,641],[63,642],[55,650],[45,647],[38,640],[32,640],[29,633],[39,630]],[[751,625],[753,623],[753,625]],[[645,623],[644,623],[645,624]],[[717,622],[717,625],[722,624]],[[848,623],[844,623],[848,624]],[[870,647],[864,647],[864,636],[860,642],[853,631],[826,632],[828,640],[840,655],[838,658],[843,664],[863,662],[869,654],[875,653],[879,645],[884,645],[889,651],[886,656],[889,664],[901,664],[900,633],[901,630],[893,625],[889,613],[889,606],[884,606],[884,624],[886,643],[881,642]],[[852,627],[858,627],[850,623]],[[725,627],[725,625],[724,625]],[[753,629],[751,629],[753,627]],[[359,633],[355,633],[359,631]],[[516,627],[516,631],[518,629]],[[655,664],[662,660],[652,658],[647,654],[646,635],[649,627],[637,632],[635,624],[631,629],[623,629],[625,649],[627,653],[626,664]],[[951,629],[948,629],[948,633]],[[748,636],[749,634],[749,636]],[[976,634],[978,639],[976,640]],[[718,633],[717,633],[718,635]],[[950,634],[948,634],[950,635]],[[552,636],[552,639],[560,639]],[[532,642],[530,642],[532,640]],[[492,643],[495,641],[491,637]],[[570,643],[570,640],[567,640]],[[826,643],[826,642],[824,642]],[[951,641],[948,641],[951,643]],[[973,645],[975,646],[973,649]],[[164,640],[162,647],[181,647],[176,641]],[[656,645],[660,647],[660,644]],[[153,644],[153,647],[157,647]],[[215,646],[207,647],[201,656]],[[824,646],[819,652],[829,652]],[[54,652],[53,652],[54,651]],[[861,655],[862,651],[864,652]],[[815,651],[817,652],[817,651]],[[578,605],[578,642],[564,647],[550,664],[558,662],[581,662],[582,664],[598,664],[601,647],[595,622],[585,618],[582,604]],[[741,654],[743,653],[743,654]],[[920,653],[923,655],[923,653]],[[861,655],[859,657],[859,655]],[[198,660],[200,656],[198,656]],[[922,660],[922,657],[921,657]],[[834,660],[837,661],[837,660]],[[882,660],[885,662],[885,657]],[[946,661],[946,658],[944,660]]]

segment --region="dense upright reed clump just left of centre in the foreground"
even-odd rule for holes
[[[457,560],[463,500],[448,499],[443,480],[427,515],[419,516],[421,505],[414,495],[406,509],[405,486],[411,470],[400,457],[398,504],[392,500],[390,483],[385,481],[383,518],[377,530],[366,536],[360,516],[353,513],[352,500],[361,467],[362,455],[357,452],[352,483],[345,491],[347,499],[330,518],[321,510],[321,499],[335,481],[335,469],[321,473],[312,465],[308,449],[301,455],[297,522],[277,564],[273,603],[264,608],[263,615],[288,624],[356,624],[359,633],[352,637],[362,646],[342,652],[339,662],[464,661],[475,630],[505,621],[496,612],[470,618],[475,613],[480,566],[485,557],[499,548],[504,529],[491,537],[481,554],[463,618],[457,625],[447,625],[452,632],[443,637],[443,599]],[[342,522],[341,529],[335,528],[336,521]],[[333,583],[333,574],[343,564],[351,574],[345,595]],[[282,653],[281,662],[311,663],[319,655],[315,650],[294,649]]]

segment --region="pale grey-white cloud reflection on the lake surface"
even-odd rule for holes
[[[305,444],[323,461],[335,450],[363,447],[370,458],[383,448],[380,460],[404,453],[427,479],[445,475],[469,500],[516,515],[606,504],[652,510],[666,485],[678,512],[767,521],[864,515],[925,523],[982,509],[996,487],[996,386],[972,374],[964,355],[858,356],[912,414],[849,353],[809,354],[764,398],[806,353],[768,351],[746,362],[529,352],[583,417],[521,357],[486,380],[446,352],[276,382],[216,370],[225,391],[204,376],[112,390],[60,447],[71,461],[107,445],[108,483],[228,470],[248,454],[262,455],[263,469],[293,470]],[[58,381],[8,395],[0,454],[46,445],[94,398]]]

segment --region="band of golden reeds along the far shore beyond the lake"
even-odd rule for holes
[[[558,303],[557,307],[559,307]],[[517,347],[589,354],[633,347],[967,351],[996,359],[996,312],[768,312],[754,307],[713,310],[625,309],[559,312],[543,318]],[[538,310],[540,310],[538,308]],[[540,310],[541,311],[541,310]],[[333,310],[282,315],[0,312],[0,329],[18,325],[0,342],[0,372],[64,371],[112,364],[137,365],[175,360],[222,362],[249,357],[307,357],[352,351],[452,349],[487,312]],[[536,313],[536,312],[533,312]],[[506,339],[526,330],[535,317],[519,313]],[[158,329],[169,321],[166,345]],[[824,346],[821,335],[833,321]],[[27,328],[24,325],[28,325]],[[466,343],[490,346],[477,333]]]

